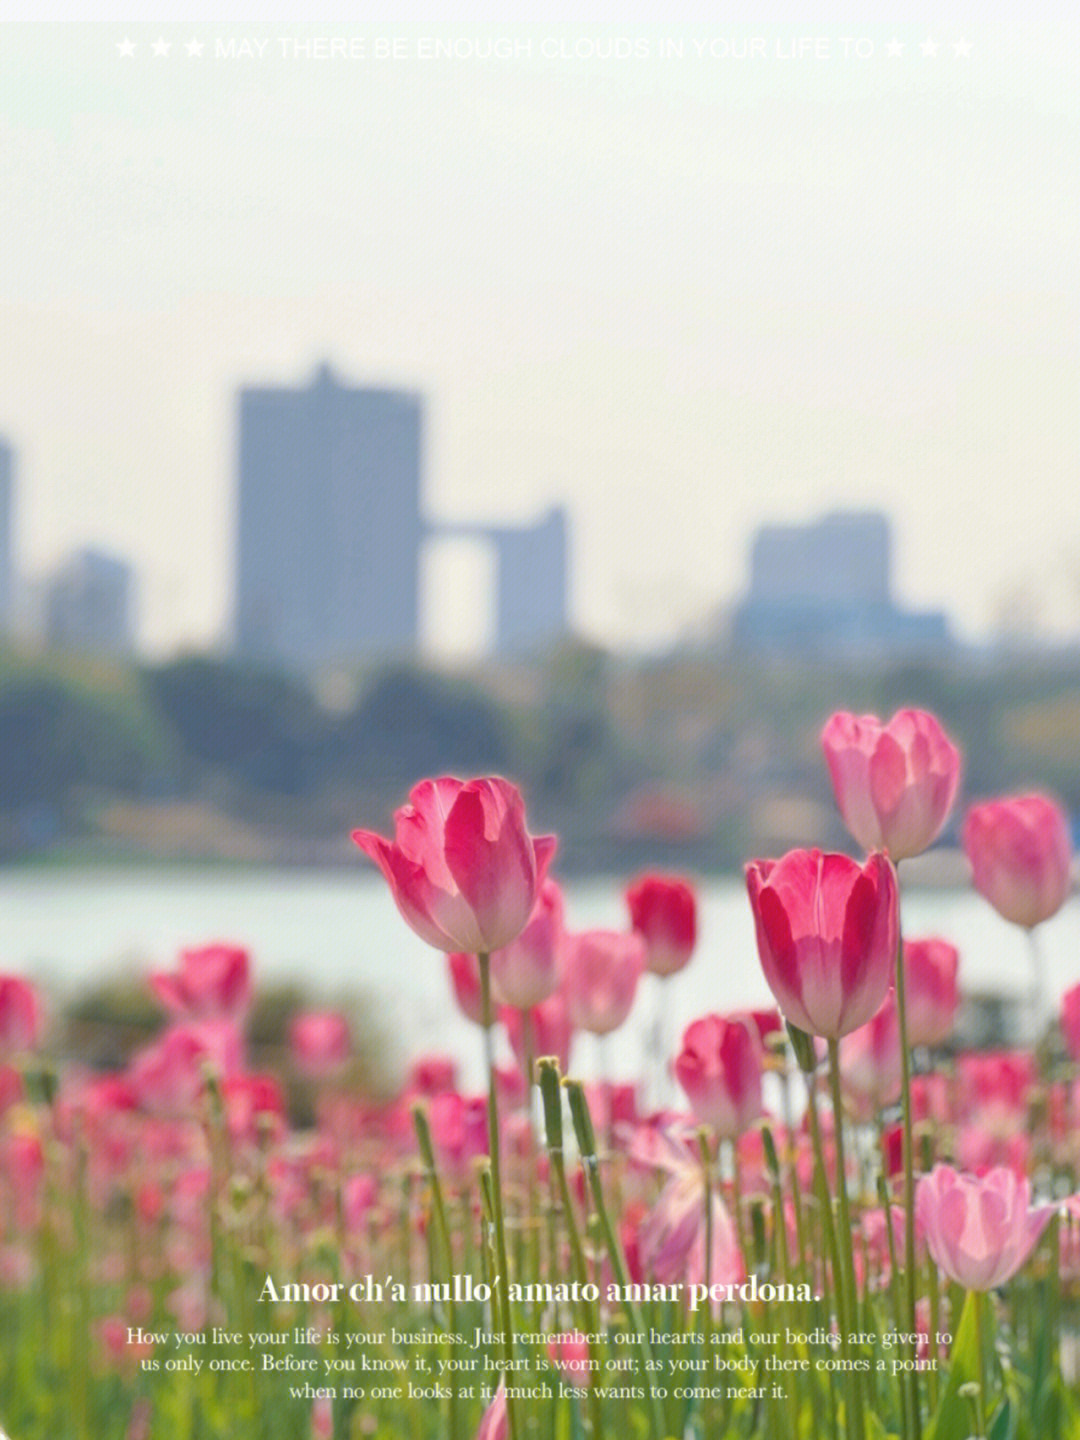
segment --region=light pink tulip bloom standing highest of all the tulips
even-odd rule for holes
[[[888,724],[841,710],[821,734],[837,805],[864,850],[920,855],[942,831],[960,782],[960,753],[926,710]]]

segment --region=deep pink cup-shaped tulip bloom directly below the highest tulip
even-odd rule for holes
[[[896,873],[883,854],[792,850],[746,867],[757,953],[798,1030],[837,1040],[886,998],[899,948]]]

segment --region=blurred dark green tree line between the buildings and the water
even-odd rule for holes
[[[642,808],[628,811],[628,796],[668,786],[703,818],[661,858],[734,865],[755,844],[759,802],[829,806],[818,736],[832,710],[907,704],[937,713],[963,746],[966,795],[1038,785],[1080,811],[1077,657],[631,661],[573,644],[513,670],[397,664],[354,681],[331,706],[301,678],[212,655],[0,655],[0,854],[92,837],[114,798],[194,799],[276,832],[340,837],[380,824],[423,775],[498,772],[573,864],[645,857],[625,834]],[[652,840],[655,858],[664,837]]]

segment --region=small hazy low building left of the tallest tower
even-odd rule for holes
[[[45,583],[45,639],[56,649],[120,655],[134,647],[134,572],[99,550],[79,550]]]

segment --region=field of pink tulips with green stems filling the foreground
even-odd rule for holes
[[[242,937],[147,976],[160,1031],[118,1073],[46,1058],[45,998],[0,973],[0,1437],[1080,1440],[1080,984],[1030,1048],[965,1051],[963,956],[900,888],[956,819],[1037,946],[1067,819],[960,814],[926,711],[835,714],[822,749],[851,854],[746,865],[775,1008],[701,994],[638,1084],[579,1080],[580,1037],[693,965],[694,884],[639,874],[624,929],[575,930],[497,776],[353,837],[481,1094],[439,1056],[356,1093],[330,1011],[252,1068]]]

